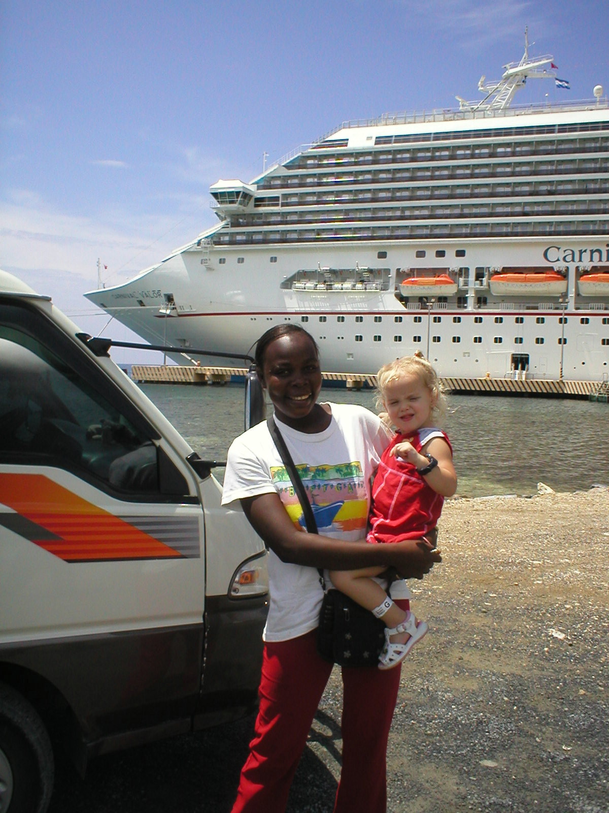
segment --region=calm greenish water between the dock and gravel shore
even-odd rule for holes
[[[202,458],[226,460],[244,428],[242,386],[140,386]],[[374,411],[372,390],[323,389],[321,400]],[[452,395],[449,404],[461,497],[533,494],[539,482],[555,491],[609,485],[609,404],[477,395]]]

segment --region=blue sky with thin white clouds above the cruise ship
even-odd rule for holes
[[[129,340],[82,296],[98,257],[123,282],[213,224],[209,185],[251,180],[264,153],[480,98],[525,25],[571,90],[529,82],[516,102],[609,91],[607,0],[2,0],[0,267]]]

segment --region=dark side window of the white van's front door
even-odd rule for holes
[[[0,459],[65,468],[116,496],[158,498],[153,437],[113,403],[107,383],[108,398],[55,342],[20,327],[28,321],[39,320],[26,309],[0,307]],[[185,481],[179,491],[188,493]]]

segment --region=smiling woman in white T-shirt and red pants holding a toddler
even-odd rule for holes
[[[361,544],[370,477],[389,436],[364,407],[317,403],[322,376],[309,333],[295,324],[271,328],[257,342],[256,364],[309,501],[333,507],[323,536],[303,533],[300,502],[266,422],[231,445],[222,504],[242,508],[270,548],[260,711],[233,813],[281,813],[332,671],[316,649],[323,595],[317,568],[395,567],[422,578],[439,556],[421,540]],[[408,609],[408,601],[396,603]],[[387,740],[400,667],[389,672],[343,667],[343,685],[343,767],[335,813],[384,813]]]

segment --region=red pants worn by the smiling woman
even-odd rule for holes
[[[406,608],[408,602],[400,602]],[[232,813],[283,813],[332,665],[317,654],[317,630],[265,645],[260,709]],[[400,667],[343,668],[343,767],[335,813],[387,811],[387,740]]]

